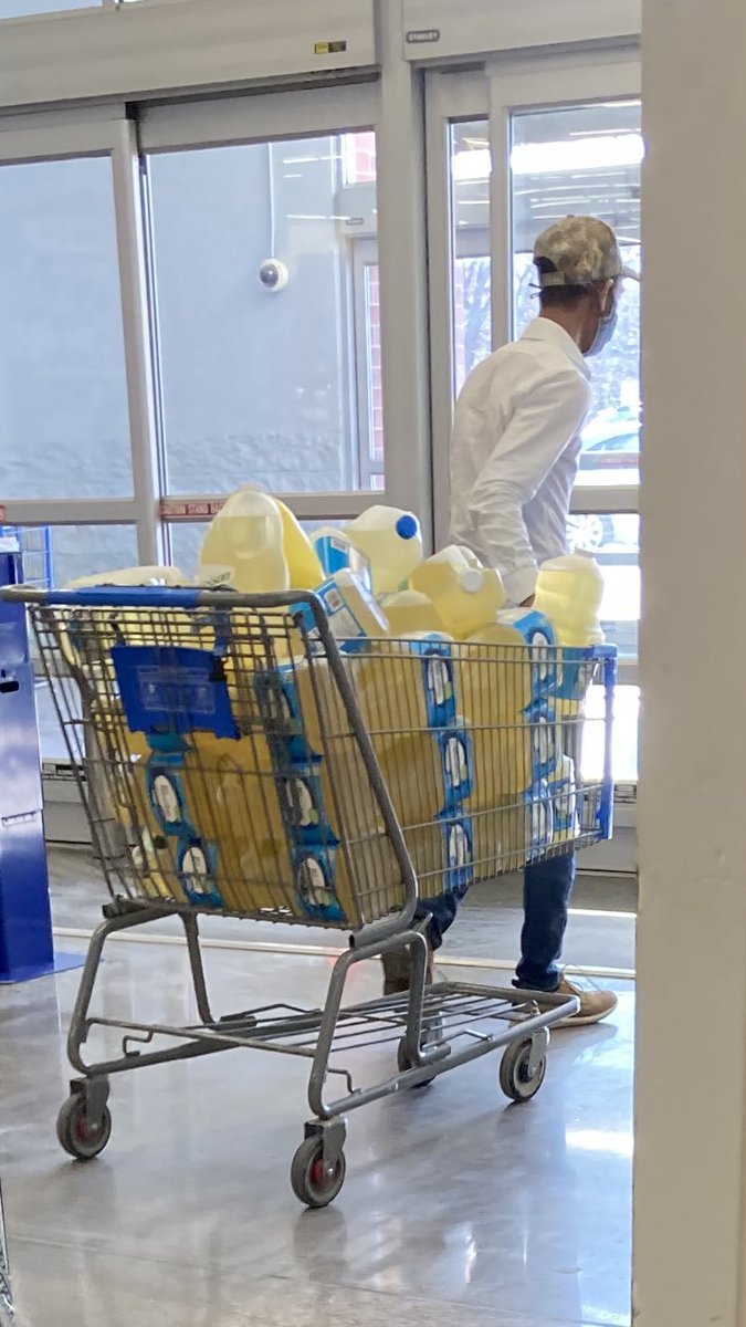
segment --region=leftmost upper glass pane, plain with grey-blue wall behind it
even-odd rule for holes
[[[0,167],[0,498],[133,491],[109,157]]]

